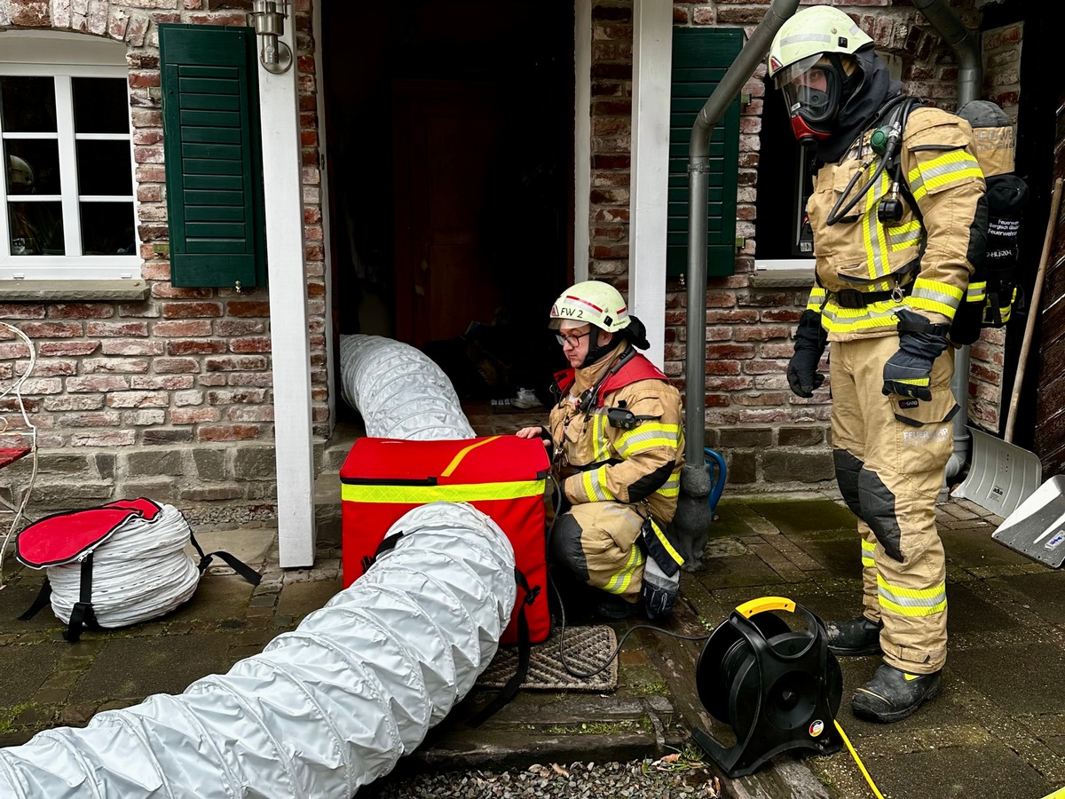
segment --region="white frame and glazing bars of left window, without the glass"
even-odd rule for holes
[[[7,221],[6,158],[0,154],[0,286],[31,280],[138,280],[141,278],[141,237],[137,232],[140,203],[136,198],[136,163],[133,159],[133,126],[127,101],[127,133],[75,133],[73,78],[118,78],[127,85],[129,70],[125,64],[124,45],[113,42],[52,32],[17,31],[0,34],[0,75],[47,77],[55,85],[55,133],[11,133],[0,128],[0,140],[53,140],[59,142],[60,182],[63,203],[64,256],[16,256],[11,252]],[[117,60],[117,63],[116,63]],[[63,63],[58,63],[62,61]],[[128,141],[131,195],[78,195],[77,142]],[[2,150],[0,150],[2,153]],[[28,195],[33,196],[33,195]],[[16,201],[27,200],[19,195]],[[40,200],[55,201],[48,195]],[[135,254],[131,256],[81,255],[81,216],[79,203],[132,202]],[[9,282],[11,281],[11,282]]]

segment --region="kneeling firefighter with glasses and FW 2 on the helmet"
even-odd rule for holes
[[[525,427],[554,453],[564,496],[551,559],[599,589],[599,616],[650,618],[672,609],[684,562],[667,535],[676,510],[684,440],[681,395],[634,347],[643,325],[609,283],[586,280],[551,309],[570,369],[547,428]]]

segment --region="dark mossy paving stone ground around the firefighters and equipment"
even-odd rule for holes
[[[850,697],[878,659],[843,661],[838,721],[885,796],[1041,799],[1065,785],[1065,574],[993,541],[1001,519],[972,503],[950,501],[939,516],[951,633],[944,692],[899,723],[864,722],[851,714]],[[18,621],[42,574],[5,560],[0,746],[56,725],[83,725],[99,711],[136,704],[154,692],[180,692],[196,679],[225,673],[341,589],[334,542],[320,545],[313,568],[282,570],[269,529],[204,535],[212,537],[206,547],[230,549],[260,569],[262,583],[252,588],[228,569],[212,567],[193,599],[168,616],[87,632],[73,645],[63,640],[62,625],[47,608]],[[850,512],[829,492],[726,494],[706,568],[685,573],[682,588],[668,626],[684,635],[705,635],[738,604],[767,594],[791,598],[824,619],[853,616],[859,610],[858,544]],[[628,626],[617,624],[619,636]],[[429,732],[403,771],[660,757],[690,751],[689,732],[697,725],[727,745],[733,731],[700,701],[702,647],[638,631],[621,652],[617,690],[521,691],[473,729],[464,722],[493,696],[475,690]],[[846,750],[786,753],[752,777],[723,783],[724,795],[737,799],[872,796]]]

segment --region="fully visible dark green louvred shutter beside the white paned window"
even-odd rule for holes
[[[159,26],[177,287],[263,286],[266,242],[255,33]]]

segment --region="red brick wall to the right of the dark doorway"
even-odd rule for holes
[[[742,27],[750,35],[767,3],[674,0],[678,26]],[[950,49],[912,7],[888,0],[840,4],[871,33],[878,46],[903,59],[911,93],[949,110],[956,108],[957,67]],[[978,19],[971,3],[955,9],[963,23]],[[632,2],[599,0],[592,7],[592,191],[589,274],[627,287],[627,175],[632,93]],[[730,484],[744,490],[809,487],[833,479],[828,443],[828,390],[812,399],[794,396],[785,370],[792,353],[791,330],[806,304],[808,288],[752,284],[757,170],[764,111],[765,67],[743,88],[751,98],[741,110],[736,274],[707,281],[706,442],[728,462]],[[666,371],[683,386],[685,303],[682,281],[667,286]],[[993,338],[993,337],[988,337]],[[986,341],[972,347],[983,369],[994,361]],[[983,374],[981,372],[980,374]],[[985,389],[974,388],[978,397]],[[997,398],[994,399],[997,403]],[[974,403],[984,413],[993,404]],[[997,406],[996,406],[997,407]]]

